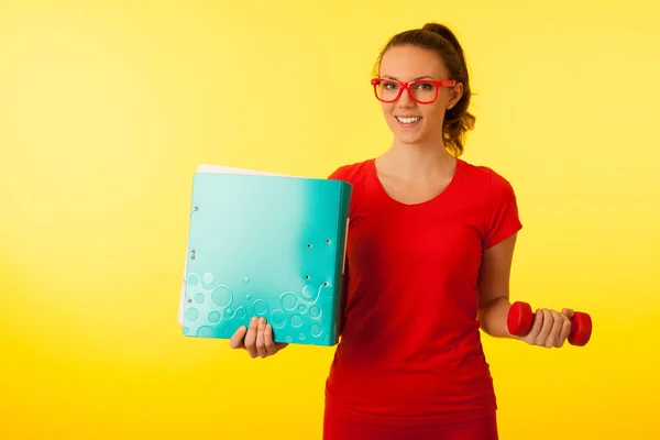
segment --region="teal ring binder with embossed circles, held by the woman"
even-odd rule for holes
[[[275,342],[339,339],[351,185],[201,166],[194,176],[179,319],[229,339],[253,316]]]

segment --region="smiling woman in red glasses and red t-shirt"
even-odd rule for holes
[[[561,346],[573,311],[537,310],[525,338],[507,330],[521,223],[509,183],[459,158],[475,119],[453,33],[429,23],[395,35],[372,86],[394,141],[380,157],[330,176],[353,185],[353,200],[324,439],[497,439],[480,328]],[[286,344],[255,320],[231,346],[263,358]]]

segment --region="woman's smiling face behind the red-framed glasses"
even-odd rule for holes
[[[442,58],[432,51],[415,46],[389,48],[381,61],[380,77],[413,81],[415,79],[444,80],[449,77]],[[419,94],[435,94],[429,86],[418,88]],[[418,103],[404,90],[398,100],[381,102],[383,114],[395,139],[403,144],[439,143],[442,141],[444,113],[460,99],[462,85],[438,88],[438,99]],[[395,94],[396,95],[396,94]]]

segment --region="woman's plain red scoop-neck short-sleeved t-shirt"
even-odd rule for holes
[[[517,232],[509,183],[458,160],[436,198],[391,198],[374,160],[329,177],[353,185],[344,326],[327,410],[415,426],[474,420],[496,409],[477,314],[483,251]]]

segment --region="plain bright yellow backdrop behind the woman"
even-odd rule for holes
[[[585,348],[484,338],[503,439],[660,436],[652,1],[0,1],[0,437],[320,439],[332,349],[267,360],[176,322],[199,163],[326,177],[391,141],[369,78],[448,23],[516,188],[514,299]]]

